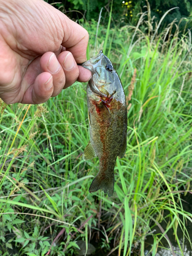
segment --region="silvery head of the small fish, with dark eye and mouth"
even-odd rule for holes
[[[96,81],[98,87],[113,83],[115,76],[118,76],[111,60],[103,54],[102,50],[96,57],[83,62],[81,66],[92,72],[93,81]]]

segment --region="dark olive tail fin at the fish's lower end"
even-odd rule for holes
[[[105,179],[101,179],[101,177],[96,175],[91,183],[89,191],[91,193],[99,189],[102,189],[104,193],[108,194],[108,197],[111,197],[113,195],[114,182],[115,182],[114,175],[110,178],[105,178]]]

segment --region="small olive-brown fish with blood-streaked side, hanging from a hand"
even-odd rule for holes
[[[85,161],[99,158],[99,172],[89,188],[102,189],[109,197],[114,192],[117,157],[126,152],[127,108],[120,78],[102,50],[81,64],[92,72],[87,85],[90,141],[83,152]]]

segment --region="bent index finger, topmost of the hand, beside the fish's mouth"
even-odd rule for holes
[[[61,45],[66,48],[66,51],[70,51],[73,54],[77,63],[86,61],[89,41],[88,31],[73,22],[73,20],[69,19],[67,16],[62,26],[65,33]]]

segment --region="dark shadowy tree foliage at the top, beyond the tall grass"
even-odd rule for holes
[[[79,20],[83,17],[87,22],[91,22],[91,20],[98,20],[100,10],[101,8],[104,8],[104,16],[101,23],[103,25],[108,24],[107,14],[110,11],[111,5],[111,1],[109,0],[63,0],[60,1],[60,3],[55,0],[47,0],[47,2],[56,6],[70,18]],[[151,7],[151,16],[153,17],[155,15],[157,22],[168,9],[178,7],[164,18],[164,26],[173,22],[174,19],[179,21],[181,18],[184,18],[185,22],[186,19],[191,20],[191,0],[148,0],[148,3]],[[144,6],[146,6],[145,0],[113,0],[112,27],[122,27],[127,24],[136,25],[139,19],[138,13],[145,10]],[[183,26],[185,22],[183,22]],[[162,26],[161,29],[163,29],[164,26]],[[189,26],[191,27],[191,24],[189,24]]]

